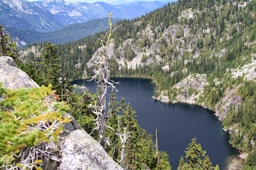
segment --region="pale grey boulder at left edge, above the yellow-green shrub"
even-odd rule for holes
[[[15,61],[6,56],[0,57],[0,82],[3,82],[3,88],[37,88],[39,87],[29,75],[16,65]]]

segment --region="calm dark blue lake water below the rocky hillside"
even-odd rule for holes
[[[229,137],[222,130],[221,122],[214,116],[214,112],[198,105],[164,104],[154,100],[155,84],[150,79],[113,80],[121,83],[116,86],[117,100],[120,102],[124,97],[125,102],[131,104],[140,126],[152,134],[155,134],[157,128],[159,150],[168,153],[172,169],[179,166],[180,156],[186,155],[184,151],[193,137],[207,151],[213,166],[218,164],[220,169],[227,165],[227,158],[237,155],[237,150],[228,144]],[[83,85],[83,82],[77,80],[72,84]],[[97,84],[85,82],[85,86],[89,91],[96,92]]]

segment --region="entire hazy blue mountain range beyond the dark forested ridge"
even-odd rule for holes
[[[125,1],[124,1],[125,2]],[[113,5],[108,3],[67,3],[64,0],[1,0],[0,24],[15,29],[54,31],[69,24],[113,17],[132,19],[164,6],[158,1]]]

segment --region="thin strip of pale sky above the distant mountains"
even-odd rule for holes
[[[39,0],[27,0],[27,1],[39,1]],[[42,0],[40,0],[42,1]],[[156,0],[64,0],[68,3],[76,3],[76,2],[84,2],[84,3],[95,3],[95,2],[104,2],[109,4],[122,4],[122,3],[130,3],[132,1],[156,1]],[[158,0],[163,1],[163,0]],[[165,0],[166,1],[166,0]]]

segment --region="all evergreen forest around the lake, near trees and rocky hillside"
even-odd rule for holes
[[[89,105],[95,105],[93,98],[99,100],[102,93],[72,93],[69,81],[97,74],[101,66],[95,63],[105,52],[111,77],[152,78],[157,84],[155,97],[159,100],[166,96],[169,102],[189,102],[215,111],[223,129],[230,134],[229,143],[247,155],[243,169],[254,169],[255,11],[255,0],[179,0],[136,19],[116,22],[110,28],[111,37],[110,33],[106,36],[106,32],[100,32],[60,45],[34,44],[21,50],[19,59],[15,52],[9,54],[17,58],[20,68],[35,77],[39,85],[52,84],[52,89],[60,95],[59,100],[69,105],[68,112],[91,132],[97,117]],[[106,49],[102,48],[102,42],[108,42]],[[61,79],[61,84],[57,79]],[[202,86],[194,86],[193,82]],[[7,95],[12,93],[1,90]],[[159,151],[157,156],[152,135],[138,125],[131,105],[125,100],[118,104],[115,93],[109,98],[113,102],[108,105],[111,116],[107,125],[115,132],[118,125],[131,132],[125,145],[124,167],[170,169],[168,155]],[[4,102],[0,104],[3,107]],[[99,139],[96,131],[92,136]],[[106,151],[114,160],[120,160],[120,139],[109,129],[106,136],[116,141]],[[195,138],[185,153],[186,157],[180,158],[179,169],[218,169],[212,167],[206,151]],[[4,164],[3,161],[1,158],[0,163]]]

